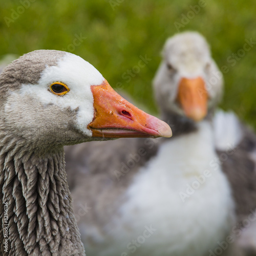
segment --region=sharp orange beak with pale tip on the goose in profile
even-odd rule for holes
[[[108,81],[91,86],[94,97],[94,119],[88,125],[93,137],[171,137],[167,123],[148,115],[123,99]]]

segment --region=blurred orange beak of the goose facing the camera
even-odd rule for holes
[[[177,100],[185,115],[194,121],[200,121],[207,115],[208,93],[201,77],[181,78]]]

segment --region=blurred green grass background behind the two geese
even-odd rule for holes
[[[187,24],[182,24],[191,6],[199,3],[205,7],[194,17],[190,12]],[[178,32],[178,23],[180,31],[199,31],[219,67],[229,70],[224,74],[221,107],[234,110],[256,128],[256,45],[235,65],[228,61],[245,39],[256,41],[255,0],[9,0],[2,1],[0,14],[0,57],[36,49],[70,51],[92,63],[118,92],[129,92],[154,114],[151,84],[164,41]],[[151,59],[147,65],[128,75],[127,70],[145,55]]]

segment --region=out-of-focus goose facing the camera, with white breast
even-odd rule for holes
[[[203,36],[177,34],[162,56],[153,83],[172,139],[66,148],[82,242],[99,256],[244,255],[234,241],[256,208],[255,136],[215,113],[223,75]]]

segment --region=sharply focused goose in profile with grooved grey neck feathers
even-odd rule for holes
[[[89,62],[56,50],[27,53],[3,70],[0,110],[1,255],[85,255],[63,145],[172,133]]]

